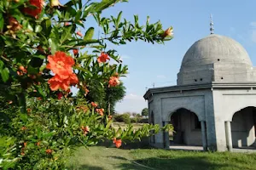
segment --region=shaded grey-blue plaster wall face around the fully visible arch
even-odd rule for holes
[[[150,111],[154,111],[154,122],[160,124],[160,126],[163,125],[163,122],[170,122],[172,113],[180,108],[194,112],[200,122],[207,122],[208,146],[211,150],[216,149],[211,89],[153,94],[148,102],[150,102]],[[185,135],[187,144],[201,145],[201,130],[192,131],[190,129],[189,131],[186,131],[188,135]],[[155,144],[152,145],[164,147],[163,143],[163,133],[156,134]]]

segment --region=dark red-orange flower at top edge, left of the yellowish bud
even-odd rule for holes
[[[29,4],[35,6],[35,8],[24,8],[24,12],[26,14],[32,15],[35,18],[38,18],[38,15],[42,12],[44,7],[44,0],[29,0]]]

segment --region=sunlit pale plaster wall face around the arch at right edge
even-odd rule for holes
[[[212,91],[214,100],[214,122],[217,141],[217,150],[227,150],[224,122],[232,122],[236,111],[247,106],[256,106],[256,90],[215,88]]]

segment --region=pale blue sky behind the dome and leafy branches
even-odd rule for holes
[[[165,45],[130,42],[114,47],[129,68],[129,74],[122,79],[126,95],[116,111],[140,113],[148,106],[143,99],[146,88],[153,84],[156,88],[176,85],[183,55],[195,41],[210,34],[210,14],[214,32],[240,42],[256,65],[255,7],[255,0],[130,0],[106,10],[106,16],[123,11],[126,20],[138,14],[141,24],[150,16],[150,22],[160,20],[164,28],[174,29],[174,38]]]

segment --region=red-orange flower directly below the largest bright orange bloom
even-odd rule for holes
[[[59,75],[55,75],[54,77],[50,78],[49,88],[52,91],[58,90],[59,88],[67,91],[69,89],[70,85],[77,84],[79,82],[79,79],[76,74],[72,73],[67,77],[67,79],[62,79]]]

